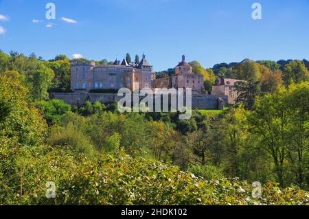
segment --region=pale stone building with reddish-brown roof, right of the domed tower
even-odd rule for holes
[[[212,95],[222,95],[229,97],[229,104],[236,104],[238,91],[236,85],[244,80],[236,80],[230,78],[218,78],[216,84],[212,87]]]

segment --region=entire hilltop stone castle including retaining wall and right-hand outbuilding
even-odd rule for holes
[[[152,65],[143,55],[141,62],[127,63],[115,60],[113,65],[95,65],[95,62],[71,61],[71,90],[73,93],[50,93],[52,99],[63,100],[67,104],[80,106],[87,100],[103,103],[118,101],[117,93],[100,93],[102,90],[119,90],[128,88],[130,91],[139,89],[170,89],[191,88],[192,108],[216,110],[227,104],[235,104],[238,96],[236,84],[240,80],[218,78],[211,95],[205,93],[204,78],[192,72],[192,67],[185,61],[185,56],[175,67],[175,74],[168,78],[155,78]],[[93,91],[91,91],[93,90]],[[90,91],[90,92],[89,92]]]

